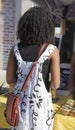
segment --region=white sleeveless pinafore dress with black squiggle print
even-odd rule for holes
[[[43,76],[42,66],[56,46],[50,44],[38,59],[37,66],[28,82],[24,92],[21,87],[33,65],[33,62],[24,61],[20,55],[18,43],[14,45],[14,53],[17,60],[18,80],[14,86],[14,93],[20,93],[19,124],[10,130],[52,130],[53,106],[51,92],[47,92]]]

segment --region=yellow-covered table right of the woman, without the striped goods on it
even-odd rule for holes
[[[58,101],[53,104],[55,113],[53,130],[75,130],[75,117],[65,116],[59,112],[61,106],[69,99],[73,99],[72,95],[58,96]]]

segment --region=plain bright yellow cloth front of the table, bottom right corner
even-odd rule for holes
[[[75,118],[56,114],[53,130],[75,130]]]

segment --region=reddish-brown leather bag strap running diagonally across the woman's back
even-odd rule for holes
[[[34,71],[36,65],[37,65],[38,59],[39,59],[39,57],[41,56],[41,54],[43,53],[43,51],[44,51],[44,49],[45,49],[45,47],[46,47],[47,45],[48,45],[48,43],[44,43],[44,44],[41,46],[41,48],[40,48],[40,50],[39,50],[39,53],[38,53],[38,56],[37,56],[37,58],[36,58],[34,64],[32,65],[32,68],[31,68],[30,72],[29,72],[28,75],[27,75],[27,78],[26,78],[26,80],[25,80],[25,82],[24,82],[24,84],[23,84],[23,87],[21,88],[21,92],[23,92],[23,91],[26,89],[27,84],[28,84],[28,81],[30,80],[30,77],[31,77],[31,75],[32,75],[32,73],[33,73],[33,71]]]

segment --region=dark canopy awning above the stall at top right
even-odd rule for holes
[[[75,0],[31,0],[49,8],[57,17],[75,20]]]

